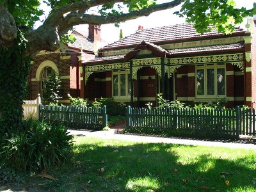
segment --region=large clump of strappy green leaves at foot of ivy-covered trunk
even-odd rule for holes
[[[72,136],[64,125],[26,120],[25,129],[13,134],[4,146],[5,165],[18,171],[42,172],[67,161]]]

